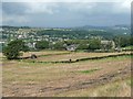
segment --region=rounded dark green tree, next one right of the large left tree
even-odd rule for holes
[[[39,41],[35,44],[35,48],[37,50],[44,50],[44,48],[49,48],[49,42],[47,41]]]

